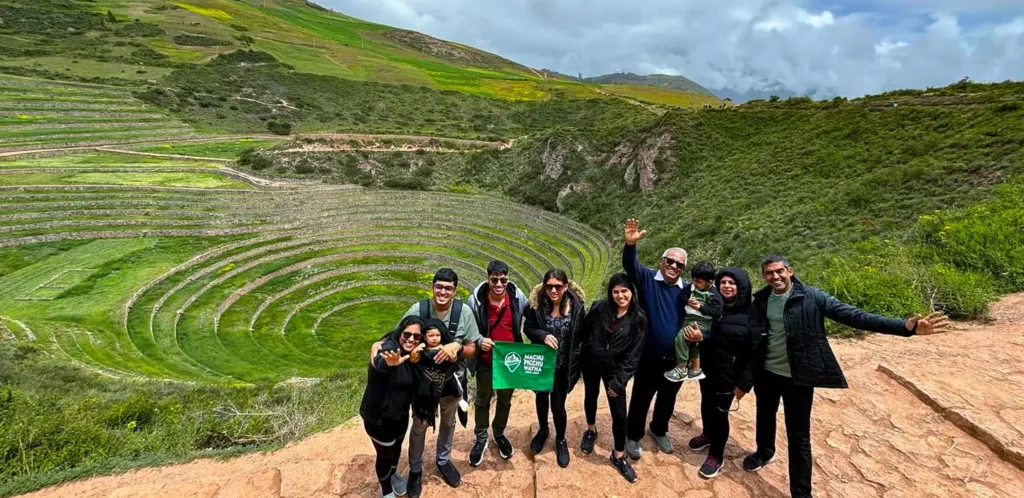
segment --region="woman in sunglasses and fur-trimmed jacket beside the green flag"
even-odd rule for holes
[[[555,382],[551,391],[537,391],[537,434],[529,449],[538,454],[548,441],[548,412],[555,419],[555,456],[558,465],[569,464],[569,448],[565,443],[565,396],[569,384],[569,356],[572,338],[583,324],[583,289],[569,281],[561,269],[549,269],[541,284],[529,293],[529,306],[524,314],[523,330],[530,342],[547,344],[558,350],[555,360]]]

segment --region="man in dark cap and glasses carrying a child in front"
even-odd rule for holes
[[[455,341],[445,344],[435,357],[435,361],[463,362],[473,358],[476,343],[480,340],[480,332],[476,325],[473,310],[460,299],[456,299],[456,289],[459,286],[459,276],[452,268],[440,268],[434,274],[431,285],[431,298],[418,301],[410,306],[402,318],[411,315],[423,319],[437,319],[455,332]],[[453,329],[453,323],[456,327]],[[380,342],[374,344],[371,357],[380,348]],[[466,388],[465,368],[457,374],[462,388]],[[452,463],[452,444],[455,441],[455,419],[461,398],[449,396],[440,400],[440,426],[437,428],[437,470],[444,482],[456,488],[462,483],[459,469]],[[396,490],[406,489],[408,496],[420,496],[423,476],[423,448],[426,444],[427,427],[433,425],[433,420],[419,420],[414,417],[413,427],[409,432],[409,481],[403,488],[400,480],[394,484]]]

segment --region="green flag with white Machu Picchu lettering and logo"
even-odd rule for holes
[[[551,390],[558,351],[544,344],[495,341],[492,357],[496,389]]]

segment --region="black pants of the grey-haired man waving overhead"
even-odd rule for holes
[[[654,413],[650,417],[650,431],[659,437],[669,431],[669,420],[676,410],[676,395],[683,385],[682,382],[673,382],[665,378],[665,372],[675,367],[674,357],[644,356],[640,360],[640,366],[637,367],[637,373],[633,377],[633,399],[630,401],[629,423],[626,429],[626,437],[630,441],[640,441],[643,438],[651,400],[654,401]]]

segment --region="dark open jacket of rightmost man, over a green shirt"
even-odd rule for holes
[[[768,296],[773,292],[765,286],[754,295],[753,322],[764,330],[763,340],[755,359],[755,376],[764,370],[768,354]],[[890,319],[860,310],[828,295],[821,289],[804,285],[793,278],[793,294],[785,302],[784,323],[786,352],[793,382],[811,387],[846,388],[846,376],[840,368],[828,338],[825,337],[825,318],[847,327],[868,332],[911,336],[903,320]]]

